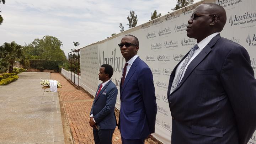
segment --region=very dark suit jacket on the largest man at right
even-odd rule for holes
[[[218,34],[170,94],[176,68],[167,92],[172,144],[246,144],[256,128],[256,80],[246,49]]]

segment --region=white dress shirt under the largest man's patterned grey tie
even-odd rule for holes
[[[204,38],[201,42],[199,42],[199,43],[196,42],[196,43],[195,43],[195,45],[197,44],[199,48],[194,52],[194,54],[192,55],[192,57],[191,57],[190,60],[188,61],[187,65],[186,65],[186,67],[185,67],[185,69],[184,69],[184,71],[183,71],[183,73],[182,73],[182,75],[181,75],[181,79],[180,79],[179,83],[181,82],[181,80],[182,80],[182,78],[183,78],[183,76],[184,76],[184,74],[185,74],[185,72],[186,72],[186,70],[187,70],[188,65],[189,65],[189,64],[192,62],[192,60],[203,50],[203,48],[207,46],[207,44],[208,44],[208,43],[213,39],[213,37],[215,37],[217,34],[219,34],[219,32],[215,32],[215,33],[211,34],[210,36]],[[185,59],[186,59],[186,58],[185,58]],[[181,66],[182,66],[182,64],[184,63],[185,59],[183,59],[182,62],[177,66],[176,71],[175,71],[174,80],[177,78],[178,71],[181,69]],[[174,80],[172,81],[172,85],[173,85]],[[171,92],[171,91],[170,91],[170,92]],[[170,94],[171,94],[171,93],[170,93]]]

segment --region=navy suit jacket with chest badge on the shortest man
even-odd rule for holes
[[[98,89],[100,85],[98,85]],[[98,91],[97,89],[97,91]],[[92,104],[90,114],[94,114],[94,120],[100,129],[115,129],[117,126],[114,107],[116,105],[117,87],[110,80],[100,91]]]

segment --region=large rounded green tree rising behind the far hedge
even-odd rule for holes
[[[31,44],[25,46],[25,52],[33,59],[62,60],[67,62],[65,53],[60,49],[61,46],[63,44],[57,37],[44,36],[41,39],[34,39]]]

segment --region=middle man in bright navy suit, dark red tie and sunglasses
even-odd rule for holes
[[[153,74],[137,55],[138,38],[126,35],[118,44],[126,60],[120,85],[119,128],[123,144],[144,144],[155,132],[156,97]]]

